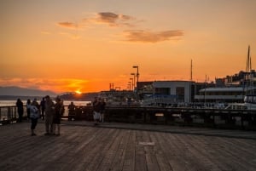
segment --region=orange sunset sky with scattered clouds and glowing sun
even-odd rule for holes
[[[0,0],[0,86],[61,92],[256,66],[255,0]]]

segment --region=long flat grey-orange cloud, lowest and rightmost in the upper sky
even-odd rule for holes
[[[159,43],[163,41],[172,40],[174,37],[182,37],[183,31],[173,30],[173,31],[124,31],[125,41],[128,42],[141,42],[141,43]]]

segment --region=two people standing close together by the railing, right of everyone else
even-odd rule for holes
[[[106,102],[102,98],[95,97],[93,103],[93,119],[94,124],[98,125],[99,123],[104,123],[104,113]]]

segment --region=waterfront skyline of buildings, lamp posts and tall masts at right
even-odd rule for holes
[[[215,83],[208,83],[207,78],[206,81],[202,83],[194,82],[192,60],[190,63],[189,81],[139,82],[138,67],[139,66],[133,66],[133,68],[137,69],[137,73],[131,73],[133,77],[129,79],[131,82],[128,84],[127,92],[123,91],[121,93],[118,92],[116,88],[113,89],[110,87],[108,93],[104,92],[105,96],[109,96],[109,94],[119,97],[129,96],[136,100],[143,101],[144,105],[242,103],[248,95],[252,100],[253,98],[256,99],[254,95],[256,72],[252,69],[250,46],[248,46],[247,51],[246,71],[239,71],[231,76],[215,78]]]

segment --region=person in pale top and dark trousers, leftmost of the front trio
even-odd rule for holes
[[[36,100],[33,100],[32,105],[29,106],[30,109],[30,118],[31,118],[31,135],[37,135],[35,134],[34,130],[37,127],[38,124],[38,118],[40,117],[40,113],[38,110],[38,103]]]

